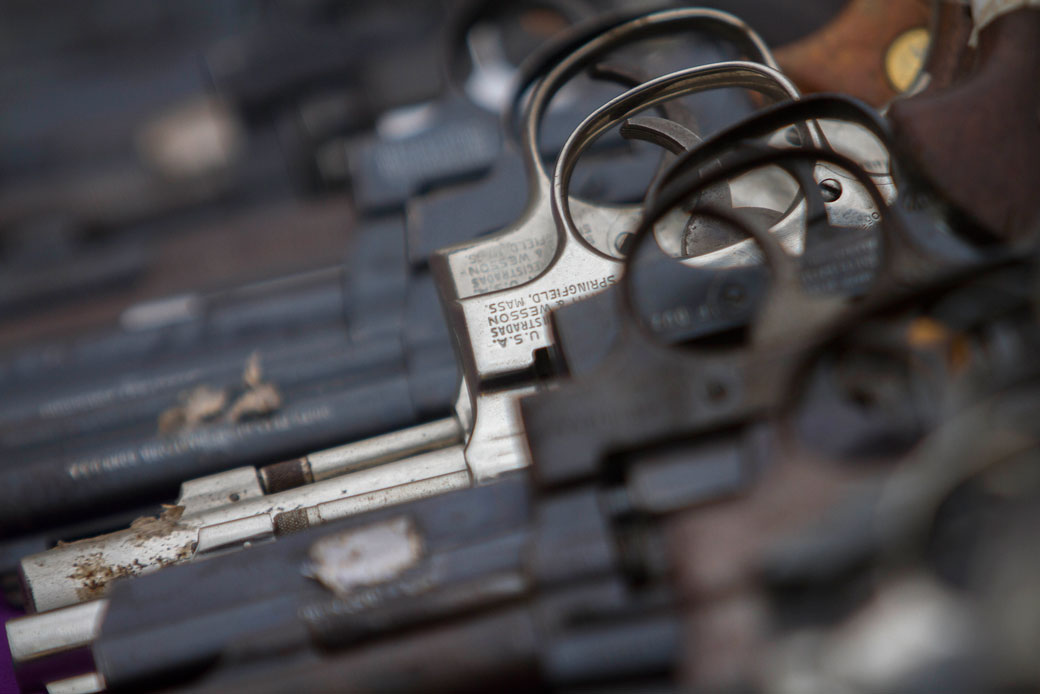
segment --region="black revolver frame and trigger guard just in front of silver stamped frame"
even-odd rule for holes
[[[795,103],[778,107],[772,113],[784,110],[810,111],[813,104],[820,103],[826,102],[815,100]],[[826,112],[826,108],[816,110],[823,111],[820,114]],[[762,130],[768,130],[768,124],[777,121],[780,118],[770,112],[758,119]],[[752,119],[749,124],[754,122],[755,119]],[[745,129],[750,127],[746,125]],[[709,152],[703,151],[705,149],[702,148],[696,154],[701,157],[710,156]],[[691,155],[695,153],[692,152]],[[812,158],[805,153],[786,151],[762,155],[760,160],[769,163],[798,157]],[[860,172],[855,162],[839,154],[817,150],[815,157],[817,161],[830,161],[855,173],[881,211],[882,224],[879,229],[885,232],[882,241],[884,253],[881,268],[874,280],[876,290],[884,291],[882,287],[886,283],[879,278],[886,276],[898,277],[899,284],[895,286],[900,286],[920,281],[919,278],[929,277],[932,273],[941,275],[942,271],[937,269],[932,260],[926,261],[919,251],[911,251],[911,235],[905,226],[899,227],[899,232],[894,230],[896,223],[893,220],[898,217],[885,205],[882,195],[869,182],[867,174]],[[734,165],[731,171],[744,172],[752,168],[753,164],[745,162]],[[723,171],[716,171],[707,176],[699,173],[698,187],[706,182],[724,179],[727,175],[725,169],[726,166]],[[693,173],[698,172],[694,169]],[[651,215],[644,219],[638,239],[646,238],[649,225],[672,205],[688,197],[690,187],[687,181],[685,187],[678,191],[672,190],[664,202],[657,201]],[[886,212],[886,209],[889,211]],[[683,431],[692,433],[735,426],[749,415],[754,416],[755,412],[769,411],[779,406],[777,399],[783,397],[782,393],[787,387],[784,384],[790,378],[789,375],[784,376],[784,371],[792,365],[792,353],[786,350],[806,349],[804,343],[800,343],[799,336],[810,341],[817,339],[818,331],[834,318],[840,303],[833,298],[807,295],[798,281],[797,265],[782,247],[761,230],[754,231],[754,238],[763,250],[775,283],[770,301],[760,309],[757,325],[752,332],[753,346],[757,346],[759,352],[727,354],[701,350],[693,353],[697,355],[695,358],[692,354],[664,348],[648,334],[642,319],[635,317],[630,284],[623,284],[622,287],[626,290],[617,292],[619,306],[630,319],[641,326],[640,329],[624,331],[622,336],[625,339],[616,344],[614,353],[595,374],[587,375],[581,382],[566,389],[541,394],[537,404],[536,401],[522,404],[525,419],[537,427],[536,432],[527,432],[531,454],[536,460],[544,458],[553,463],[553,467],[542,465],[536,468],[540,479],[546,483],[572,480],[575,475],[587,474],[600,457],[612,451],[631,446],[638,440],[665,435],[665,432],[674,436]],[[627,276],[622,277],[623,282],[630,282],[630,279],[624,279]],[[791,326],[786,317],[788,315],[799,315],[799,323]],[[774,343],[778,336],[783,336],[784,341],[780,344]],[[649,393],[639,385],[648,382],[669,384],[669,387]],[[604,389],[610,393],[603,392]],[[571,401],[571,397],[576,400]],[[582,405],[578,406],[577,402]],[[621,406],[622,403],[625,404]],[[587,437],[582,434],[583,431],[595,434]]]

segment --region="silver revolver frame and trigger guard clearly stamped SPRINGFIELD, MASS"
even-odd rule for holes
[[[561,152],[553,175],[551,208],[561,230],[556,232],[558,240],[550,264],[536,279],[519,287],[461,299],[451,306],[448,316],[458,336],[464,377],[470,393],[475,394],[476,425],[468,444],[473,453],[468,453],[468,456],[478,479],[526,464],[526,453],[520,439],[522,430],[515,419],[515,406],[508,402],[511,396],[509,390],[497,384],[506,382],[509,378],[522,378],[520,375],[525,372],[529,375],[536,351],[552,343],[549,326],[544,320],[545,312],[605,290],[620,277],[621,263],[613,257],[615,254],[604,253],[601,245],[594,246],[583,237],[579,231],[580,223],[576,223],[572,215],[571,206],[574,203],[570,202],[567,186],[577,158],[596,136],[634,112],[669,98],[721,85],[760,89],[778,100],[798,96],[792,85],[769,68],[749,62],[725,62],[660,77],[618,97],[578,126]],[[856,149],[852,143],[846,147]],[[891,195],[890,186],[886,187]],[[841,223],[850,221],[841,220],[842,214],[838,210],[852,210],[854,214],[861,214],[861,220],[865,216],[866,226],[869,226],[873,222],[869,204],[864,204],[862,198],[847,196],[834,212],[828,213],[838,219],[836,224],[844,226]],[[788,216],[778,225],[789,230],[780,234],[781,237],[794,238],[797,243],[801,238],[802,224],[797,213]],[[859,221],[854,226],[864,225]],[[630,227],[617,229],[600,224],[597,229],[629,233]],[[613,239],[606,242],[607,249],[616,246]],[[747,257],[747,247],[748,242],[745,242],[721,251],[720,254],[725,254],[722,262],[732,263],[742,252],[746,262],[751,261],[752,258]],[[720,254],[693,262],[718,262]],[[485,391],[492,393],[493,400],[485,399],[482,394]],[[514,397],[521,394],[524,392],[520,390],[512,393]],[[483,439],[493,441],[493,458],[487,457],[488,445]]]

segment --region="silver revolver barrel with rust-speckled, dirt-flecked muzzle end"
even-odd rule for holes
[[[186,483],[177,504],[158,518],[27,557],[21,572],[43,612],[98,597],[118,579],[270,538],[287,523],[283,514],[303,526],[319,524],[469,484],[458,445],[266,495],[255,468],[238,468]]]

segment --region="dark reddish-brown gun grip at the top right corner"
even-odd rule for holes
[[[1002,240],[1040,222],[1040,9],[985,27],[963,80],[892,103],[895,136],[938,192]]]

